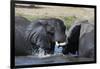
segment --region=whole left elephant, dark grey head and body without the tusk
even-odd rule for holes
[[[63,21],[56,18],[38,19],[30,23],[23,17],[15,17],[15,51],[29,55],[41,48],[45,54],[53,54],[55,41],[60,43],[66,40],[65,29]]]

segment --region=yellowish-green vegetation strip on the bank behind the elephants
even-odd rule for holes
[[[16,13],[16,15],[23,16],[30,21],[36,20],[36,19],[41,19],[41,18],[52,18],[51,16],[33,16],[33,15],[26,15],[26,14],[19,14],[19,13]],[[70,28],[70,26],[72,25],[72,23],[75,20],[75,16],[56,16],[53,18],[59,18],[59,19],[63,20],[67,29]]]

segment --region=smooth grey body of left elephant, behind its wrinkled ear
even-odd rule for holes
[[[27,55],[30,54],[31,46],[28,46],[24,39],[26,27],[30,21],[24,17],[15,16],[15,55]]]

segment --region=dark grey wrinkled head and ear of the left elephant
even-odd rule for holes
[[[65,25],[62,20],[56,18],[39,19],[33,21],[25,32],[26,41],[33,47],[33,54],[39,48],[44,50],[44,54],[53,54],[55,41],[65,42]]]

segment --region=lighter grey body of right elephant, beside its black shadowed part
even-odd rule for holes
[[[79,37],[79,56],[94,58],[94,24],[86,22],[81,24]]]

